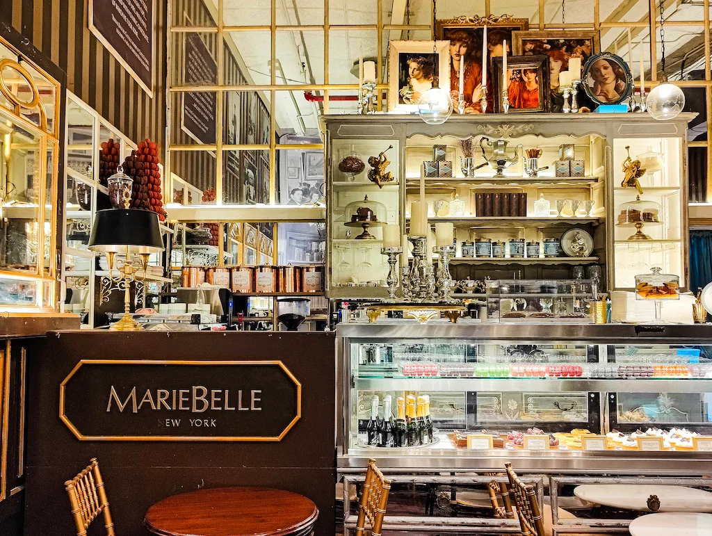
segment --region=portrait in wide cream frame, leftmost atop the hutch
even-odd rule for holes
[[[423,93],[450,90],[447,41],[389,41],[388,110],[415,112]]]

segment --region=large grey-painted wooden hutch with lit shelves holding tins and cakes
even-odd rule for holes
[[[692,118],[453,115],[444,125],[427,125],[417,116],[389,115],[387,122],[375,115],[323,116],[328,295],[386,297],[380,244],[356,241],[360,231],[343,221],[343,208],[365,196],[387,206],[387,223],[399,224],[403,234],[412,201],[421,198],[431,225],[452,223],[450,270],[457,281],[567,279],[585,269],[600,291],[632,290],[634,275],[659,266],[680,275],[686,290],[684,155]],[[368,179],[368,159],[389,146],[384,170],[393,180],[381,187]],[[653,209],[631,206],[638,196]],[[456,297],[485,293],[459,288]]]

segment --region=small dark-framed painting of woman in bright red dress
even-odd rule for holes
[[[494,58],[495,113],[503,113],[503,80],[507,80],[509,112],[549,111],[549,57],[512,56],[507,58],[507,75],[502,76],[502,58]]]

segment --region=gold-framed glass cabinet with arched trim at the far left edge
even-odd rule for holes
[[[58,308],[60,94],[56,80],[0,40],[3,312],[53,312]]]

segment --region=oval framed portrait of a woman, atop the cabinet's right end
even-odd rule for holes
[[[586,95],[598,104],[622,103],[633,90],[633,76],[628,64],[609,52],[588,58],[581,83]]]

